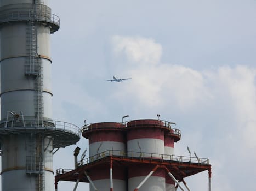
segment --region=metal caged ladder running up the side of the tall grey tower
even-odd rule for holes
[[[35,126],[43,126],[43,64],[41,56],[37,53],[37,4],[33,1],[33,9],[30,10],[30,19],[27,27],[27,56],[25,61],[25,76],[34,81],[34,109]],[[39,136],[38,136],[39,135]],[[44,138],[41,134],[31,133],[27,141],[26,154],[26,173],[36,174],[38,177],[37,190],[45,190],[45,171],[44,171]]]

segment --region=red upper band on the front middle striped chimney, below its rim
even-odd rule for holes
[[[127,141],[144,138],[164,140],[164,132],[160,129],[130,129],[127,132]]]

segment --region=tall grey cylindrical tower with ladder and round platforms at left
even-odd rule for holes
[[[49,0],[0,0],[2,190],[53,190],[53,149],[79,128],[52,120]]]

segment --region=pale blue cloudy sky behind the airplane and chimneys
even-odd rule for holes
[[[155,118],[175,122],[186,147],[212,165],[212,190],[255,190],[255,0],[54,0],[53,119],[84,122]],[[113,75],[132,79],[108,82]],[[77,145],[54,154],[73,168]],[[79,157],[79,156],[78,156]],[[208,189],[208,173],[185,179]],[[75,183],[60,181],[58,190]],[[89,190],[79,183],[78,191]]]

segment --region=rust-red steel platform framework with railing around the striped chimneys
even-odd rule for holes
[[[211,165],[208,163],[192,163],[192,162],[182,162],[177,160],[163,160],[163,159],[153,159],[153,158],[140,158],[140,157],[126,157],[126,156],[106,156],[78,166],[75,170],[63,170],[58,169],[57,175],[55,176],[55,189],[59,181],[73,181],[76,182],[77,179],[80,179],[80,182],[89,182],[84,171],[90,172],[93,171],[95,166],[102,164],[109,164],[110,169],[112,168],[127,168],[129,165],[133,164],[151,164],[153,166],[159,166],[159,168],[167,169],[172,172],[172,175],[179,182],[183,182],[185,177],[195,175],[199,172],[208,170],[209,178],[211,178]],[[110,188],[112,191],[113,188]],[[209,186],[211,191],[211,186]]]

